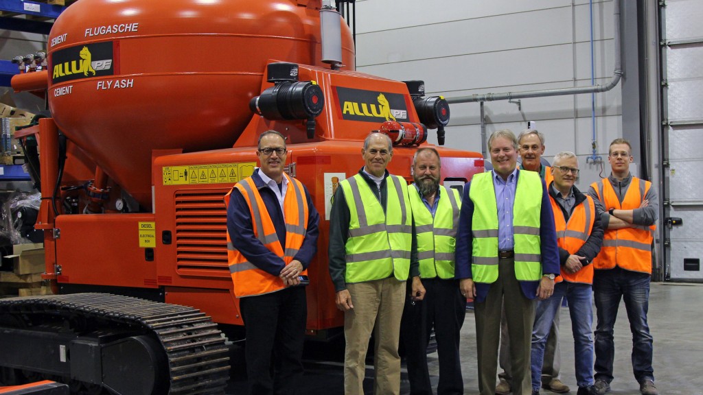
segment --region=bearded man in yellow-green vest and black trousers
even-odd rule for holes
[[[437,150],[420,148],[411,168],[414,188],[408,188],[420,263],[420,277],[414,277],[407,285],[401,322],[412,395],[432,394],[426,350],[433,324],[439,354],[437,394],[464,393],[459,332],[466,298],[454,276],[461,197],[456,189],[439,185],[440,167]]]

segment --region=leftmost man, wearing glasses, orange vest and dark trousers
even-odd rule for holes
[[[302,384],[304,285],[320,217],[307,188],[283,171],[286,154],[283,135],[264,131],[260,167],[225,196],[229,270],[244,321],[252,395],[293,394]]]

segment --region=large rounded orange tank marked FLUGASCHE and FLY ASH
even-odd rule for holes
[[[49,35],[49,108],[111,179],[149,207],[150,153],[231,147],[269,58],[323,65],[320,0],[81,0]],[[100,10],[96,12],[96,10]],[[342,23],[342,63],[354,43]]]

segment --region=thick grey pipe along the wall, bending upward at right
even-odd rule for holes
[[[505,93],[483,93],[474,94],[471,96],[458,96],[455,98],[446,98],[446,101],[450,104],[453,103],[476,103],[484,101],[498,101],[498,100],[512,100],[517,98],[539,98],[546,96],[564,96],[564,95],[579,95],[583,93],[597,93],[606,92],[613,89],[622,76],[621,68],[621,51],[620,51],[620,1],[613,1],[614,7],[614,45],[615,45],[615,69],[613,71],[613,77],[610,82],[606,85],[591,85],[591,86],[578,86],[576,88],[563,88],[563,89],[545,89],[541,91],[524,91],[524,92],[505,92]]]

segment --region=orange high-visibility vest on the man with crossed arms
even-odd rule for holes
[[[602,179],[591,186],[606,210],[631,210],[640,207],[652,183],[632,177],[622,204],[608,179]],[[606,229],[603,247],[598,257],[593,259],[593,265],[596,269],[609,269],[617,265],[625,270],[652,274],[652,238],[656,228],[654,225],[633,225],[630,228]]]

